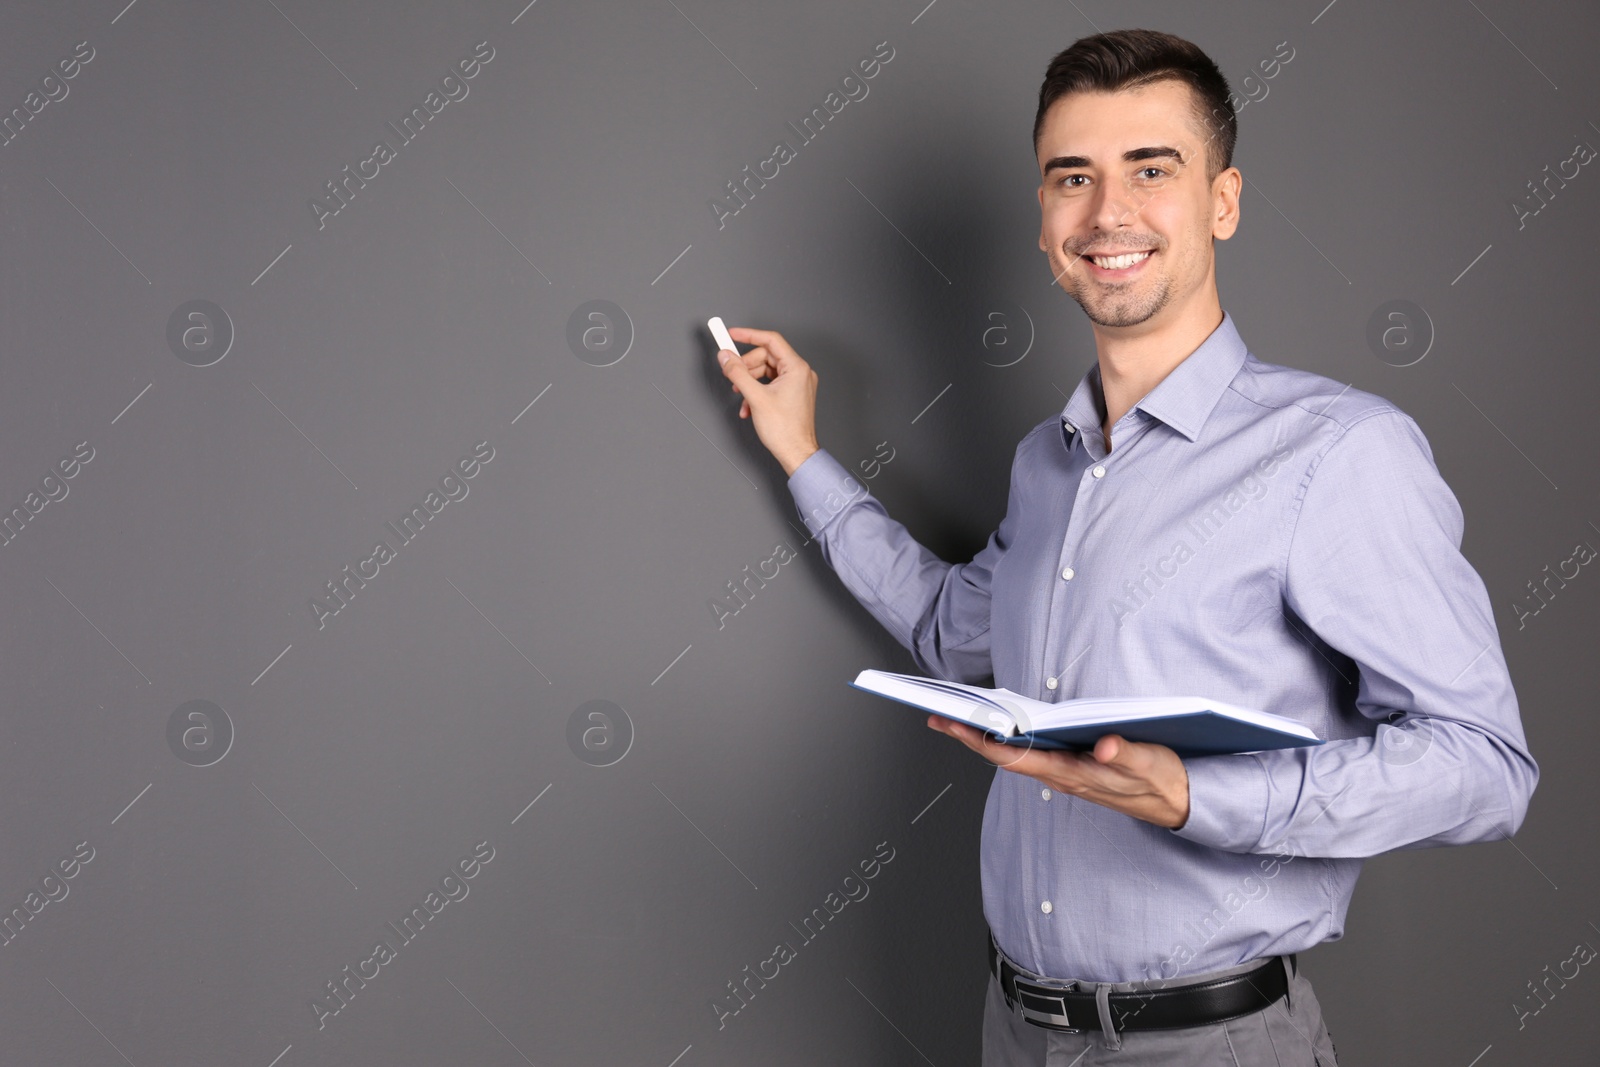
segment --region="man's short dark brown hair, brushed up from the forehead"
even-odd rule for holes
[[[1182,37],[1160,30],[1112,30],[1082,37],[1050,61],[1038,86],[1034,117],[1034,150],[1045,126],[1045,112],[1069,93],[1114,93],[1152,82],[1178,80],[1194,90],[1197,126],[1206,133],[1206,179],[1234,163],[1238,115],[1229,99],[1227,78],[1208,54]]]

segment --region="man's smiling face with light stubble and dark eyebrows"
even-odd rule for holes
[[[1099,326],[1173,318],[1214,286],[1211,238],[1238,224],[1242,176],[1230,166],[1206,181],[1194,99],[1186,83],[1163,80],[1072,93],[1045,112],[1038,248]]]

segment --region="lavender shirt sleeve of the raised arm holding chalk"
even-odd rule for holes
[[[795,467],[789,491],[822,558],[872,617],[946,681],[994,677],[989,600],[994,568],[1011,544],[1011,515],[970,563],[950,565],[918,544],[827,450]],[[1016,470],[1011,475],[1014,501]]]

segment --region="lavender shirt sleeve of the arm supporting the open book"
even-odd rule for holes
[[[1517,832],[1539,781],[1462,515],[1416,422],[1370,414],[1299,502],[1285,608],[1360,672],[1376,734],[1184,760],[1174,833],[1234,853],[1366,857]]]

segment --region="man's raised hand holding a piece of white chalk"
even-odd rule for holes
[[[717,354],[723,376],[744,397],[739,418],[755,422],[762,445],[792,475],[819,448],[816,371],[773,330],[730,326],[728,336],[757,346],[744,355],[726,349]],[[768,376],[770,382],[758,381]]]

